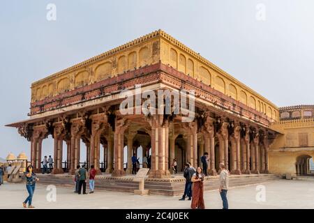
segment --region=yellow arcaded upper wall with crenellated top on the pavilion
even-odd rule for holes
[[[266,114],[274,121],[279,120],[276,105],[161,30],[33,83],[31,102],[35,105],[45,98],[160,61]]]

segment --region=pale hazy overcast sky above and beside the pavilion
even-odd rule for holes
[[[27,118],[32,82],[157,29],[275,105],[313,105],[313,8],[312,0],[3,1],[0,157],[29,155],[29,142],[3,125]],[[52,155],[52,139],[43,149]]]

